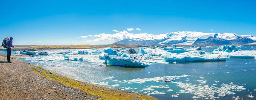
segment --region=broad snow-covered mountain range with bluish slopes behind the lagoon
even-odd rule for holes
[[[157,34],[137,39],[124,39],[118,44],[147,44],[147,45],[209,45],[209,44],[249,44],[256,42],[256,36],[239,35],[236,33],[202,33],[178,31]]]

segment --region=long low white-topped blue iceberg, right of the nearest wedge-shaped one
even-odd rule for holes
[[[193,62],[193,61],[226,61],[222,54],[205,53],[205,51],[190,51],[186,53],[169,53],[164,56],[167,62]]]

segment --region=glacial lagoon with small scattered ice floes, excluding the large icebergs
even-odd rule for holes
[[[190,47],[184,47],[190,48]],[[202,47],[211,53],[218,47]],[[254,50],[256,46],[241,46],[240,50]],[[102,53],[104,48],[99,49]],[[128,50],[125,48],[124,50]],[[139,50],[138,48],[134,48]],[[65,60],[60,52],[70,51],[72,58]],[[94,50],[84,49],[92,52]],[[0,51],[5,53],[6,51]],[[38,51],[42,52],[42,51]],[[72,55],[78,50],[44,50],[49,56],[21,58],[58,74],[78,81],[93,83],[125,91],[156,97],[159,100],[243,99],[256,96],[256,59],[227,58],[226,61],[165,62],[160,56],[145,60],[148,67],[106,66],[102,54]],[[15,52],[12,52],[15,53]],[[127,54],[129,55],[129,54]],[[254,54],[255,55],[255,54]],[[163,79],[172,79],[164,82]],[[252,98],[253,97],[253,98]]]

